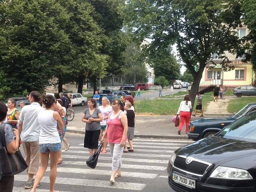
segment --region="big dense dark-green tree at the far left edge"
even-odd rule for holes
[[[11,88],[4,94],[44,91],[55,62],[69,51],[66,10],[55,0],[2,1],[0,15],[0,70]]]

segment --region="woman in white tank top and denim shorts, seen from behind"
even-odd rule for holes
[[[63,130],[64,124],[58,112],[54,111],[57,100],[52,95],[46,95],[43,99],[45,110],[38,113],[40,125],[39,152],[41,166],[36,173],[35,182],[31,192],[36,191],[37,184],[42,179],[51,155],[50,191],[54,191],[57,176],[57,162],[61,154],[61,141],[58,130]],[[58,104],[58,106],[60,106]]]

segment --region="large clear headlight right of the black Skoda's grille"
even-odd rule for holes
[[[217,167],[210,177],[223,179],[252,179],[252,176],[246,170],[222,166]]]

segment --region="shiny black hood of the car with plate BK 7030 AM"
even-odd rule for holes
[[[176,154],[190,156],[214,166],[223,164],[233,167],[235,159],[245,159],[239,162],[244,169],[247,169],[252,167],[252,164],[255,167],[256,143],[211,136],[178,149]],[[255,156],[255,158],[247,163],[246,159],[249,156]]]

